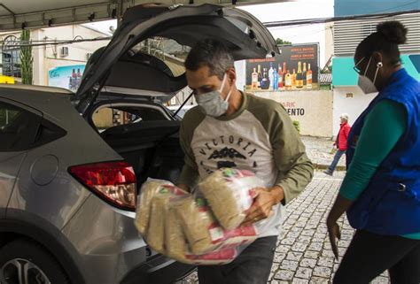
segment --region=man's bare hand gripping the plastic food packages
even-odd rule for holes
[[[242,226],[249,226],[261,219],[267,219],[273,211],[273,206],[284,199],[283,188],[278,186],[271,189],[255,188],[255,194],[253,206],[246,211],[246,218]]]

